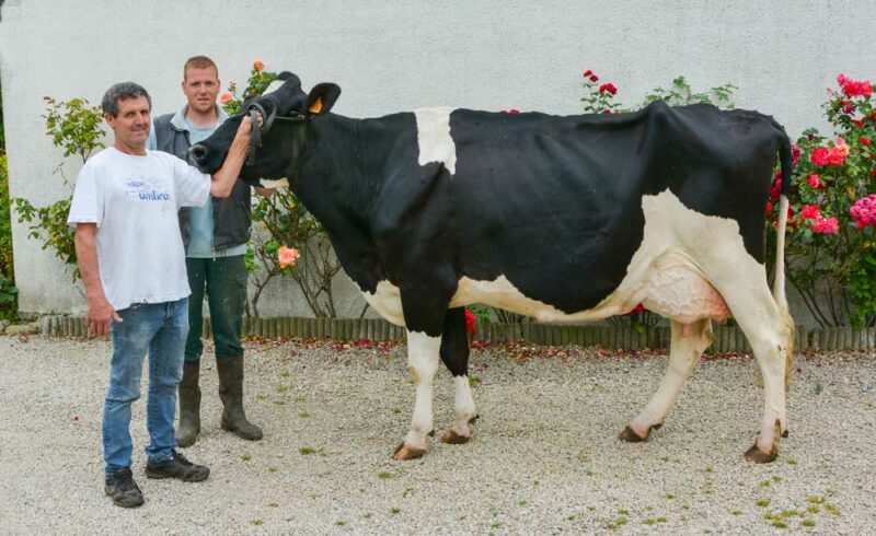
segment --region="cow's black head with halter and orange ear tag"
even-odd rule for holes
[[[292,176],[299,165],[301,148],[311,133],[311,123],[326,115],[338,95],[341,88],[333,83],[316,84],[309,94],[304,93],[298,77],[281,72],[263,95],[244,101],[238,115],[223,123],[208,139],[193,145],[192,160],[204,173],[216,173],[228,155],[243,117],[261,116],[262,126],[250,139],[250,153],[240,177],[258,186],[260,179]]]

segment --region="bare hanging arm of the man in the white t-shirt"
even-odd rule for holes
[[[89,301],[87,324],[94,335],[105,337],[110,334],[110,321],[122,322],[113,305],[106,300],[101,283],[101,271],[97,265],[97,224],[77,223],[76,257],[82,282],[85,283],[85,298]]]

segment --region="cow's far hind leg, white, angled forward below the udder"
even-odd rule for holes
[[[708,318],[682,325],[672,321],[672,341],[669,348],[669,364],[648,405],[619,435],[623,441],[647,441],[652,430],[664,423],[666,413],[678,398],[684,381],[693,374],[700,356],[712,343],[712,321]]]

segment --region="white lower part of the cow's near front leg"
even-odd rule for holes
[[[395,459],[414,459],[426,453],[426,435],[433,431],[431,386],[438,370],[438,351],[441,337],[429,337],[425,333],[407,331],[407,370],[417,394],[411,431],[399,445]]]

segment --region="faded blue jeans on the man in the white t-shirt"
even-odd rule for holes
[[[113,322],[113,361],[103,407],[103,457],[110,475],[130,467],[130,406],[140,398],[143,358],[149,352],[149,398],[146,426],[150,462],[170,459],[176,447],[173,419],[176,386],[183,377],[183,356],[188,335],[188,299],[138,303],[116,312]]]

